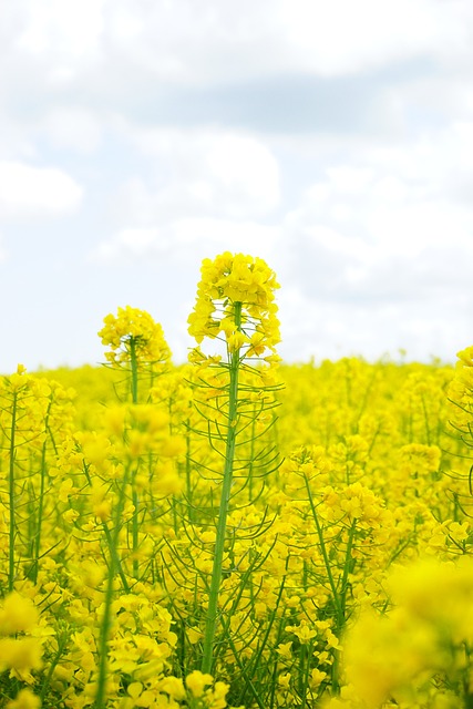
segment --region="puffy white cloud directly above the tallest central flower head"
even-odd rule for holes
[[[133,135],[133,132],[132,132]],[[131,178],[120,195],[128,222],[182,215],[248,219],[279,204],[279,166],[263,141],[232,131],[136,131],[151,178]]]

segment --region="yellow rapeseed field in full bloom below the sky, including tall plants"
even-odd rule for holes
[[[285,364],[277,287],[1,378],[0,707],[473,707],[473,348]]]

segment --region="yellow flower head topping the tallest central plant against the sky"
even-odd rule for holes
[[[245,347],[247,357],[266,349],[274,352],[280,339],[276,288],[276,275],[260,258],[226,251],[214,260],[204,259],[189,333],[197,343],[222,333],[230,352]]]

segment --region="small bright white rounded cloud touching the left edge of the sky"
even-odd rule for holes
[[[75,212],[82,192],[62,169],[0,162],[0,215],[4,218],[53,217]]]

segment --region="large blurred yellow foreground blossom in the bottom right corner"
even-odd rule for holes
[[[443,676],[464,695],[462,706],[470,706],[465,648],[467,655],[473,641],[473,561],[400,566],[387,585],[394,608],[385,615],[363,612],[346,638],[348,685],[361,706],[379,709],[389,700],[424,706],[436,691],[435,678]]]

